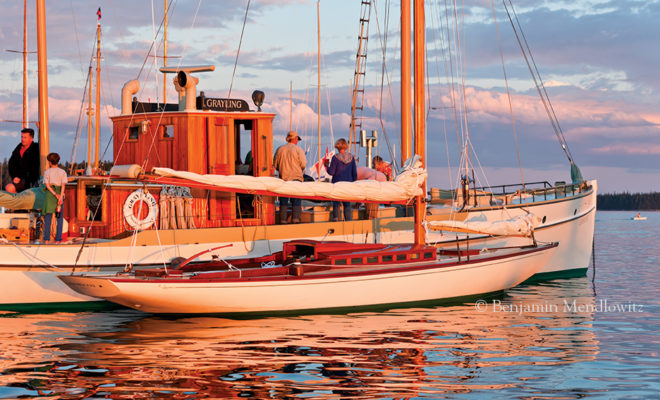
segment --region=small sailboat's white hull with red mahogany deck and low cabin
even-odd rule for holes
[[[534,275],[556,247],[447,250],[293,240],[263,257],[194,263],[200,253],[179,265],[59,278],[87,296],[150,313],[304,313],[499,292]]]

